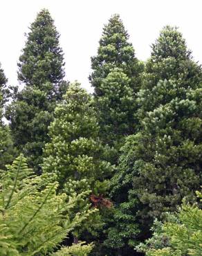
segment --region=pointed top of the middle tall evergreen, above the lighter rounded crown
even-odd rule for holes
[[[91,57],[91,73],[89,79],[95,87],[95,95],[99,95],[102,79],[113,70],[122,68],[129,77],[136,77],[142,66],[135,57],[134,47],[129,43],[129,35],[119,15],[113,15],[104,26],[98,55]]]

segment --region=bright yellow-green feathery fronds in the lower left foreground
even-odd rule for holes
[[[7,172],[1,172],[0,255],[48,255],[93,212],[72,216],[77,201],[86,194],[56,194],[58,183],[51,179],[34,176],[22,155],[8,165]],[[90,248],[84,247],[80,255]]]

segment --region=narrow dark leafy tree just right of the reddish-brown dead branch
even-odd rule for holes
[[[107,230],[105,244],[110,248],[119,248],[122,255],[133,251],[137,244],[140,230],[136,216],[139,205],[133,193],[132,180],[136,175],[131,167],[134,165],[134,135],[127,138],[121,149],[118,171],[111,179],[111,197],[116,202],[116,208],[111,223]]]

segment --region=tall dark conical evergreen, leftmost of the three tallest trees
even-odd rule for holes
[[[42,10],[30,26],[26,46],[19,57],[18,79],[24,85],[13,90],[7,118],[15,145],[36,167],[42,163],[42,148],[48,141],[48,125],[55,103],[66,90],[64,58],[59,33],[48,10]]]

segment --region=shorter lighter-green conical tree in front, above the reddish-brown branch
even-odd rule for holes
[[[93,193],[99,194],[108,186],[111,165],[100,160],[104,147],[98,140],[99,128],[91,101],[80,84],[69,86],[49,127],[50,143],[44,150],[43,170],[56,173],[61,188],[68,179],[87,179]]]

